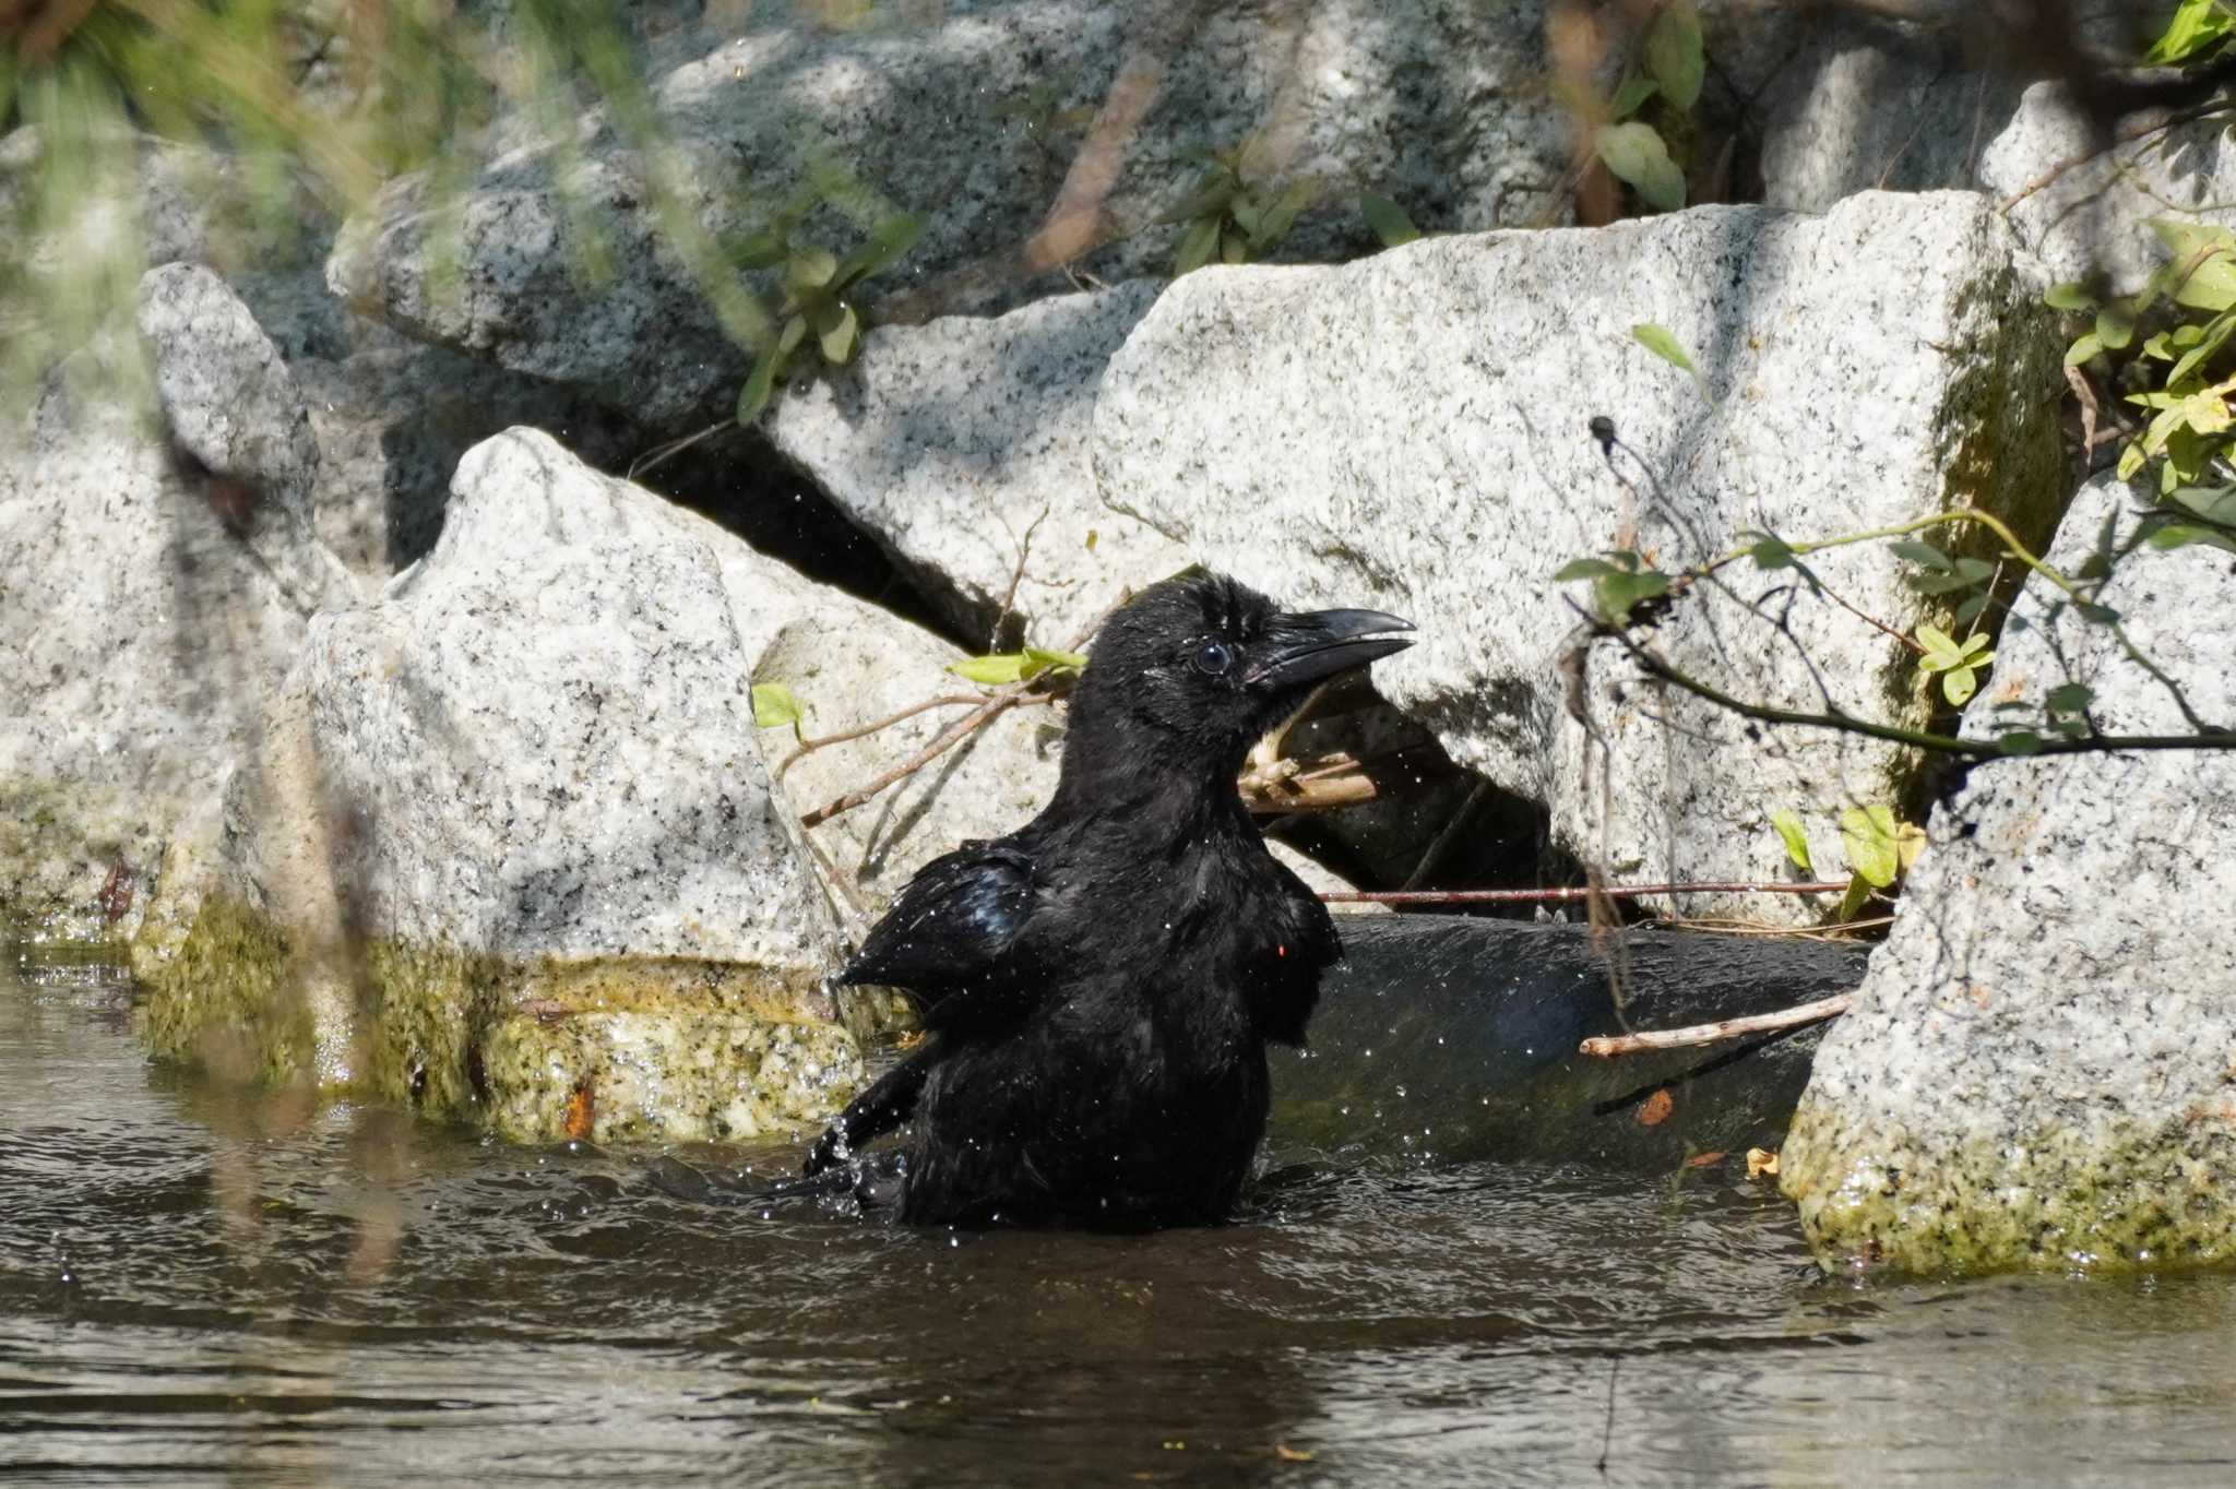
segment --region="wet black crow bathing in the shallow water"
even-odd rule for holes
[[[928,1040],[847,1104],[805,1176],[863,1176],[854,1151],[908,1122],[906,1223],[1223,1221],[1266,1134],[1266,1044],[1304,1042],[1342,957],[1234,776],[1317,682],[1411,628],[1286,615],[1201,570],[1116,610],[1046,809],[923,865],[839,975],[915,993]]]

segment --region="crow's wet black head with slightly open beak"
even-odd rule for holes
[[[1232,776],[1313,684],[1411,646],[1377,610],[1275,608],[1225,575],[1154,584],[1102,622],[1071,702],[1071,736]]]

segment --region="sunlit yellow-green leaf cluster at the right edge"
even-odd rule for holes
[[[2236,233],[2173,219],[2151,226],[2171,257],[2140,291],[2100,300],[2059,284],[2046,300],[2091,317],[2066,364],[2124,362],[2135,389],[2126,400],[2149,411],[2117,467],[2122,481],[2156,467],[2164,510],[2147,523],[2147,541],[2236,552]]]

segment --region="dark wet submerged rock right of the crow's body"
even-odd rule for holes
[[[1775,1149],[1818,1028],[1597,1058],[1632,1028],[1775,1013],[1863,977],[1863,946],[1630,930],[1623,1004],[1583,926],[1444,914],[1344,923],[1310,1046],[1275,1051],[1288,1151],[1599,1163],[1675,1172]]]

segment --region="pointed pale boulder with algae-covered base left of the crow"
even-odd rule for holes
[[[816,1120],[861,1058],[747,680],[863,613],[550,436],[474,447],[434,552],[313,622],[152,1044],[521,1138]]]

